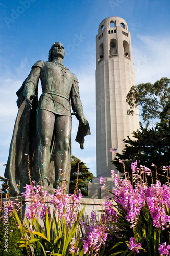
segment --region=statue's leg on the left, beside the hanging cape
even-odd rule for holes
[[[50,163],[50,145],[53,136],[55,115],[47,110],[37,110],[37,169],[40,169],[43,186],[47,186],[48,166]],[[44,187],[45,189],[46,187]]]

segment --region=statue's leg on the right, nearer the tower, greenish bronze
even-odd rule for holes
[[[53,186],[57,188],[63,184],[66,186],[67,192],[69,190],[71,170],[71,125],[72,118],[70,116],[56,117],[55,183]]]

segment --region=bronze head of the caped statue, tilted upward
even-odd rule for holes
[[[53,57],[60,57],[63,59],[64,56],[65,50],[63,44],[61,44],[61,42],[54,42],[49,51],[49,61],[52,61]]]

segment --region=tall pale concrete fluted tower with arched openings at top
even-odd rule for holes
[[[128,116],[126,95],[136,84],[131,35],[119,17],[104,19],[96,36],[96,150],[97,177],[110,177],[115,153],[124,149],[122,139],[139,128],[139,116]],[[138,111],[136,112],[138,113]]]

